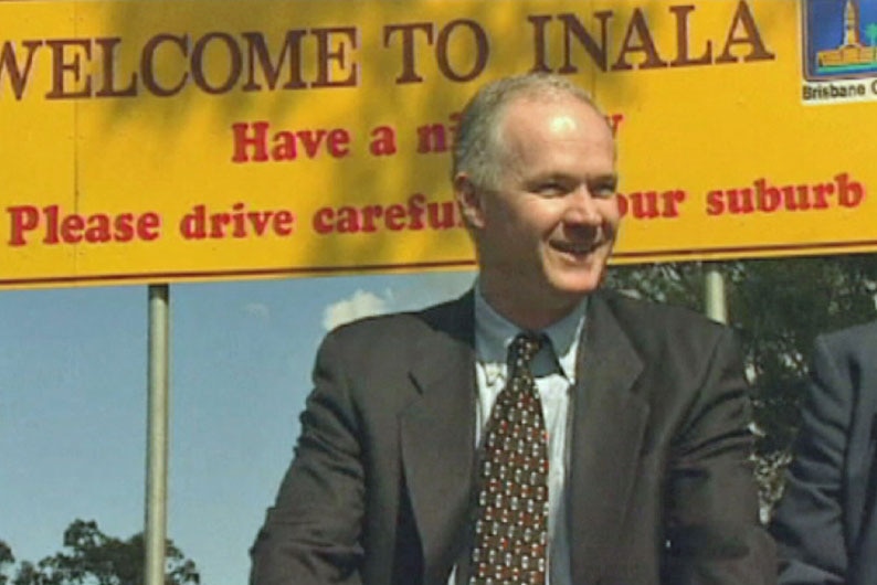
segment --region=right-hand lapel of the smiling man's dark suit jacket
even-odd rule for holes
[[[573,583],[611,559],[634,485],[648,405],[631,392],[643,362],[601,295],[590,300],[572,401],[570,543]]]

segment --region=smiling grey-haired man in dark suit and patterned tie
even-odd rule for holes
[[[730,333],[596,292],[616,182],[570,82],[475,96],[453,183],[477,283],[326,338],[254,585],[775,578]]]

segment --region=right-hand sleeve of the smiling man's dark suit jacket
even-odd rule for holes
[[[776,582],[775,547],[759,520],[748,384],[730,330],[700,369],[670,454],[662,583]]]

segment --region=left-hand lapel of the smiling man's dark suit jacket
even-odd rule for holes
[[[401,450],[423,546],[425,583],[446,578],[467,525],[475,460],[472,294],[426,315],[435,334],[419,343],[415,398],[400,413]],[[448,327],[448,323],[450,327]]]

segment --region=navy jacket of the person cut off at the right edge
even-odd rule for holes
[[[772,530],[781,583],[877,583],[877,321],[820,337]]]

